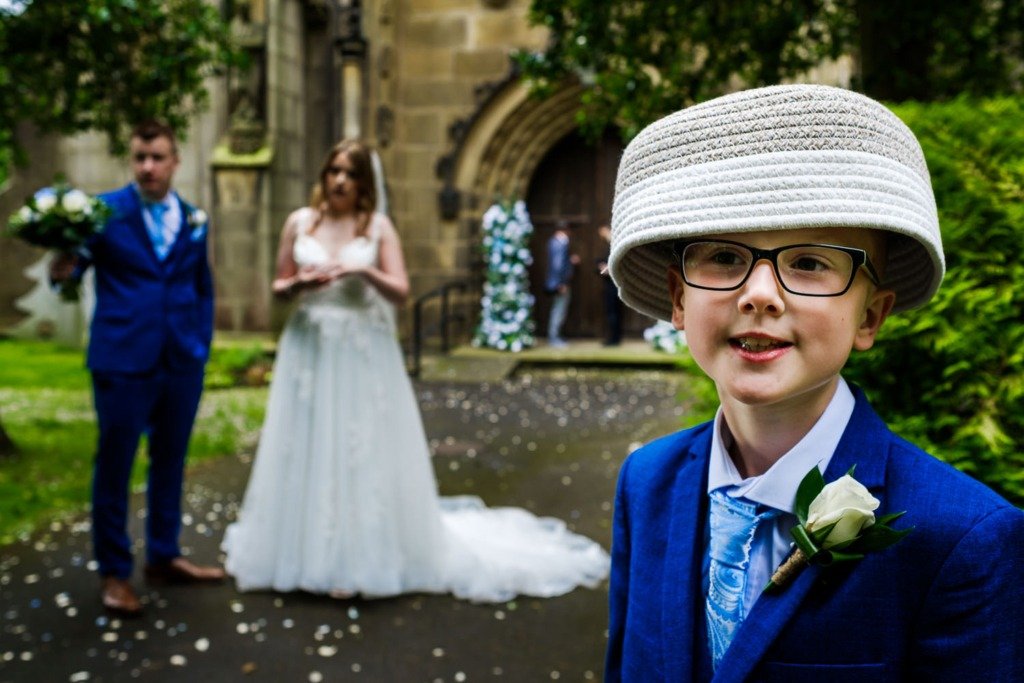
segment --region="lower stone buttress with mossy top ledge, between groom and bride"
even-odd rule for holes
[[[268,221],[269,147],[213,153],[214,207],[210,228],[218,330],[265,331],[271,327],[273,245]]]

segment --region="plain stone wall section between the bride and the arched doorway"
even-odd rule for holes
[[[377,52],[378,60],[386,51],[393,61],[380,84],[379,105],[394,112],[383,160],[414,292],[423,292],[466,278],[475,266],[475,233],[442,219],[439,209],[437,166],[453,146],[453,126],[472,116],[485,94],[481,86],[509,74],[511,49],[539,49],[545,33],[527,26],[527,0],[394,5],[393,42],[382,36]],[[486,207],[478,209],[482,215]]]

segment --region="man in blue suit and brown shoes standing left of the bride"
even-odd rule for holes
[[[101,195],[112,216],[73,259],[58,259],[54,281],[95,268],[96,308],[87,365],[92,372],[99,442],[93,472],[92,535],[101,600],[133,615],[142,605],[129,581],[129,479],[147,436],[146,566],[150,581],[223,579],[219,567],[181,555],[185,453],[203,391],[213,333],[207,218],[171,183],[178,167],[174,131],[140,124],[130,141],[134,182]]]

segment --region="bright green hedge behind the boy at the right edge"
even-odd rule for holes
[[[845,373],[902,436],[1024,503],[1024,99],[893,110],[924,147],[946,276]]]

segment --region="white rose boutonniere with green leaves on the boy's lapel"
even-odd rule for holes
[[[905,510],[876,519],[879,500],[853,478],[853,469],[825,484],[818,468],[812,467],[800,482],[796,503],[800,523],[791,531],[795,547],[772,574],[765,592],[785,587],[808,564],[853,562],[898,543],[913,529],[889,526]]]

